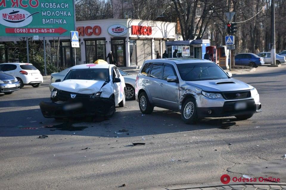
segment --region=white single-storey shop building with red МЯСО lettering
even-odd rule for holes
[[[162,56],[167,50],[166,42],[175,40],[177,36],[175,25],[176,23],[136,19],[77,21],[80,47],[71,48],[70,37],[60,37],[60,65],[69,67],[75,64],[94,63],[97,59],[108,61],[106,57],[109,51],[112,51],[117,66],[139,68],[145,60],[155,59],[156,51]],[[57,49],[57,37],[45,39],[47,47]],[[17,61],[9,58],[9,47],[5,47],[5,42],[19,40],[19,38],[0,39],[2,60]],[[51,51],[50,56],[51,61],[55,63],[57,54]]]

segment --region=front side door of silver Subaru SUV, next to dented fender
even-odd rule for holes
[[[177,109],[179,102],[179,83],[177,81],[167,82],[167,77],[169,76],[177,77],[177,74],[175,72],[174,67],[171,64],[164,64],[163,78],[162,78],[163,81],[160,84],[161,88],[160,99],[164,106]]]

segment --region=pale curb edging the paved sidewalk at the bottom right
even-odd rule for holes
[[[223,186],[236,186],[236,185],[279,185],[279,186],[286,186],[286,183],[275,183],[275,182],[231,182],[228,184],[223,184],[221,182],[216,183],[209,183],[205,185],[175,185],[175,186],[169,186],[165,187],[167,190],[183,190],[183,189],[202,189],[202,188],[211,188],[211,187],[223,187]]]

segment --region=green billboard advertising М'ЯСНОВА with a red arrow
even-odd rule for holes
[[[69,36],[74,26],[73,0],[0,0],[1,37]]]

